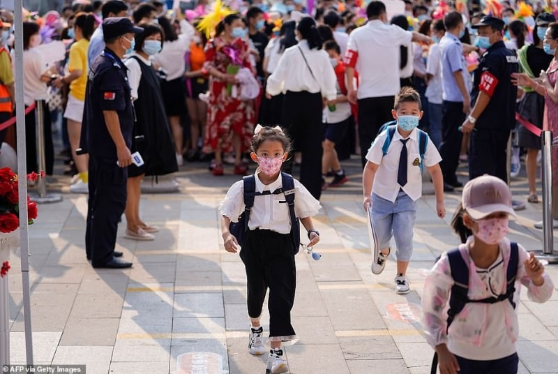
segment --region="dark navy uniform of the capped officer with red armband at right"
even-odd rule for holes
[[[476,119],[469,143],[469,179],[483,174],[507,181],[506,149],[515,127],[515,99],[518,89],[511,73],[518,72],[518,58],[503,41],[494,43],[481,57],[474,72],[472,103],[480,91],[490,102]]]

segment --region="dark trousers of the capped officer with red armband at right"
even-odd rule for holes
[[[490,174],[507,183],[507,150],[510,130],[476,127],[469,141],[469,179]]]

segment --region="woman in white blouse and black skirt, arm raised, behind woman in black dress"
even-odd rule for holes
[[[177,15],[181,15],[181,12],[177,12]],[[186,113],[186,83],[184,82],[186,60],[184,54],[190,50],[195,30],[184,19],[180,20],[181,33],[179,35],[176,35],[174,27],[166,17],[159,17],[159,24],[165,31],[165,44],[163,50],[153,56],[153,63],[165,74],[164,79],[161,80],[161,90],[163,91],[165,112],[174,139],[176,162],[181,166],[183,164],[183,130],[180,116]]]

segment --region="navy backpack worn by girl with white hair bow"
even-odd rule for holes
[[[289,205],[289,216],[291,218],[291,239],[293,244],[294,254],[299,253],[299,247],[301,244],[301,225],[300,220],[296,217],[294,213],[294,178],[292,175],[285,172],[281,172],[281,183],[282,188],[278,188],[273,192],[267,190],[263,193],[256,192],[256,177],[254,174],[247,175],[243,177],[244,184],[244,211],[239,216],[238,222],[232,222],[229,224],[229,232],[234,235],[236,241],[239,242],[240,246],[243,244],[243,240],[248,231],[248,221],[250,220],[250,209],[254,205],[254,197],[260,195],[279,195],[280,193],[285,194],[285,200]]]

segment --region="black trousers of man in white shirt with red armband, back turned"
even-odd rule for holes
[[[379,128],[393,121],[393,96],[361,98],[359,100],[359,140],[361,144],[362,167],[366,165],[366,154],[378,135]]]

